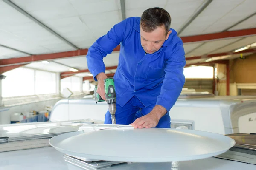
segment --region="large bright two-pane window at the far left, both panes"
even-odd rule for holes
[[[56,73],[31,68],[16,68],[4,73],[2,97],[56,93]]]

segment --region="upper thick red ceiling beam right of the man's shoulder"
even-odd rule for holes
[[[232,38],[232,37],[244,37],[244,36],[250,36],[250,35],[256,35],[256,28],[236,30],[236,31],[225,31],[225,32],[219,32],[219,33],[212,33],[212,34],[194,35],[194,36],[180,37],[180,38],[182,39],[183,43],[187,43],[187,42],[201,42],[201,41],[225,39],[225,38]]]

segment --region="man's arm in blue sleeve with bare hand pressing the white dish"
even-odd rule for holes
[[[180,96],[183,85],[185,84],[183,69],[186,65],[185,52],[181,42],[177,44],[166,64],[166,75],[160,95],[157,96],[156,106],[147,115],[136,119],[131,124],[134,128],[155,127],[160,118],[172,108]]]

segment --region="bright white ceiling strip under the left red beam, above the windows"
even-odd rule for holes
[[[35,68],[39,70],[52,71],[52,72],[64,72],[69,71],[70,67],[66,67],[64,65],[57,64],[55,62],[50,62],[49,64],[44,64],[42,62],[32,62],[25,67],[27,68]]]

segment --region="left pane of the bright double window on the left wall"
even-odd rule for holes
[[[2,97],[29,96],[35,94],[35,71],[30,68],[16,68],[7,71],[2,80]]]

